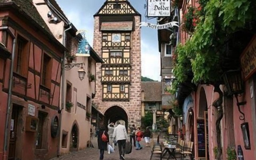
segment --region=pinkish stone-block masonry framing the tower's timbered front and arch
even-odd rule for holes
[[[102,102],[101,64],[96,66],[96,95],[94,104],[103,113],[112,106],[119,106],[126,111],[129,124],[141,125],[141,42],[140,16],[135,16],[135,31],[131,35],[131,85],[130,102]],[[99,30],[99,17],[94,18],[93,48],[102,57],[102,33]]]

